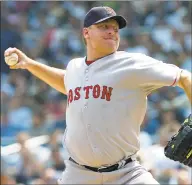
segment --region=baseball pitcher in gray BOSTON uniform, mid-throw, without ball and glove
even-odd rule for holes
[[[71,60],[66,70],[38,63],[17,48],[5,51],[5,57],[18,55],[11,69],[26,69],[68,96],[63,142],[70,158],[59,184],[158,184],[136,160],[147,96],[179,86],[191,103],[191,73],[144,54],[117,51],[119,29],[125,26],[113,9],[92,8],[82,31],[86,56]]]

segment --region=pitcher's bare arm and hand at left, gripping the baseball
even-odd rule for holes
[[[27,57],[22,51],[17,48],[8,48],[4,55],[9,56],[12,53],[17,53],[19,56],[19,62],[11,66],[10,69],[27,69],[34,76],[41,79],[57,91],[63,94],[67,94],[64,85],[65,70],[47,66],[45,64],[39,63],[31,58]]]

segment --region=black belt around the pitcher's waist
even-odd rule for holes
[[[69,158],[70,161],[78,164],[76,161],[74,161],[71,157]],[[125,159],[125,160],[122,160],[120,161],[119,163],[116,163],[112,166],[108,166],[108,167],[101,167],[101,168],[95,168],[95,167],[91,167],[91,166],[86,166],[86,165],[80,165],[80,166],[84,166],[85,168],[91,170],[91,171],[94,171],[94,172],[112,172],[112,171],[115,171],[115,170],[118,170],[120,169],[121,167],[125,166],[126,164],[132,162],[133,159],[131,158],[128,158],[128,159]]]

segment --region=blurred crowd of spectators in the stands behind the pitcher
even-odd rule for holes
[[[68,157],[62,147],[66,96],[27,71],[9,70],[5,49],[18,47],[39,62],[65,68],[70,59],[85,55],[82,20],[97,5],[111,6],[128,20],[120,32],[120,50],[145,53],[191,71],[190,1],[2,1],[1,184],[54,184]],[[191,112],[187,97],[179,88],[164,87],[148,99],[138,160],[162,184],[190,184],[191,170],[163,153]],[[41,145],[26,147],[29,138],[38,136],[46,136],[45,142],[39,138]],[[14,143],[20,148],[8,150]]]

